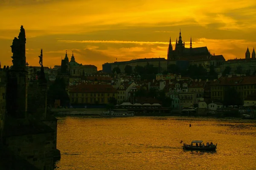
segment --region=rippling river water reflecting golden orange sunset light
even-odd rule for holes
[[[184,151],[181,140],[218,145],[216,152]],[[57,170],[255,170],[256,121],[58,117],[57,148]]]

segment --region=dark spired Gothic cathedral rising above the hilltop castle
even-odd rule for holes
[[[172,47],[172,41],[170,38],[168,53],[167,53],[168,60],[175,61],[175,60],[184,59],[184,58],[193,60],[193,56],[202,56],[202,55],[210,55],[210,52],[208,51],[207,47],[192,48],[192,39],[190,37],[189,48],[186,48],[185,41],[182,41],[181,31],[180,31],[179,40],[177,40],[176,38],[175,49],[173,49]]]

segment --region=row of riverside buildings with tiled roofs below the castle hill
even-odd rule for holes
[[[115,77],[111,82],[81,82],[70,85],[70,103],[74,104],[107,104],[115,98],[117,104],[123,102],[148,103],[148,99],[138,101],[135,93],[139,90],[164,91],[172,99],[173,109],[189,108],[204,101],[205,103],[223,103],[227,88],[234,88],[244,102],[256,92],[256,76],[229,76],[215,80],[190,79],[175,77],[175,79],[139,80],[137,77]],[[154,100],[154,103],[157,101]],[[158,103],[161,104],[160,101]],[[253,104],[253,103],[252,103]],[[255,103],[256,104],[256,103]],[[205,104],[206,105],[206,104]]]

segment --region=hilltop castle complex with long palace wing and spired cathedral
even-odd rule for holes
[[[139,65],[145,67],[147,64],[158,67],[159,62],[162,71],[167,71],[168,65],[202,65],[209,71],[210,65],[214,65],[215,68],[219,68],[225,62],[222,55],[212,55],[208,51],[207,47],[192,48],[192,40],[190,38],[190,47],[185,47],[185,42],[182,41],[181,32],[179,40],[176,39],[175,49],[172,47],[171,38],[169,41],[169,47],[166,58],[144,58],[144,59],[133,59],[130,61],[105,63],[102,65],[102,71],[111,73],[113,68],[119,67],[121,72],[125,72],[125,66],[129,65],[134,70],[135,66]]]

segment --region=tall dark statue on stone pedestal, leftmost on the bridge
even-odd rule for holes
[[[26,70],[26,35],[23,26],[20,27],[18,38],[14,38],[12,45],[12,68],[8,71],[6,89],[7,114],[12,119],[27,118],[27,82]]]

